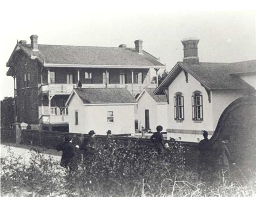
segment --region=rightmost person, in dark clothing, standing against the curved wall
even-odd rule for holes
[[[230,142],[229,136],[224,136],[223,140],[217,145],[218,163],[221,176],[228,178],[230,176],[230,164],[233,164],[230,151],[227,144]]]

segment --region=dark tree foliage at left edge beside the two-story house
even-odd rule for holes
[[[4,97],[1,101],[1,127],[11,128],[14,121],[14,98]]]

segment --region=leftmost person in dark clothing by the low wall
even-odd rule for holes
[[[70,168],[72,159],[75,159],[76,148],[72,143],[72,138],[69,135],[65,135],[65,140],[57,146],[57,151],[62,151],[62,159],[60,160],[60,166]],[[72,167],[71,167],[72,168]]]

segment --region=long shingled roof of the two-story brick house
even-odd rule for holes
[[[30,57],[42,61],[44,66],[165,68],[153,55],[146,51],[138,54],[134,48],[38,45],[38,51],[32,51],[30,44],[18,44],[18,46]]]

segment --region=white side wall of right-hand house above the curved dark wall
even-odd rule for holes
[[[214,130],[225,108],[237,98],[244,97],[245,95],[246,92],[242,90],[215,90],[212,92]]]

